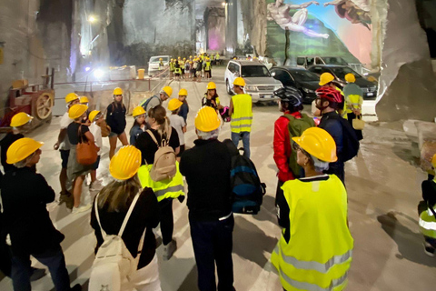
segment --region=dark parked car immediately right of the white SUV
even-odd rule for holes
[[[320,77],[300,67],[274,66],[270,70],[274,79],[284,86],[291,86],[302,92],[302,102],[309,104],[316,98],[315,90],[320,86]]]

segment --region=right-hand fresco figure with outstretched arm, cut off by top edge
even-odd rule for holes
[[[348,19],[352,24],[362,24],[368,29],[371,25],[369,0],[333,0],[324,6],[334,5],[336,13],[341,18]]]

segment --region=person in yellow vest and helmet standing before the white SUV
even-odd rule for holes
[[[250,158],[250,132],[252,131],[253,108],[252,96],[244,94],[245,81],[237,77],[233,81],[233,92],[229,106],[229,115],[232,116],[230,127],[232,128],[232,141],[238,147],[239,141],[243,140],[243,156]]]

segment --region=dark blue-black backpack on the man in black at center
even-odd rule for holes
[[[232,140],[223,141],[232,156],[230,184],[233,190],[233,213],[255,215],[261,210],[266,185],[261,183],[253,162],[240,155]]]

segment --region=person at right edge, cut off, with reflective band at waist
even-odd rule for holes
[[[436,155],[431,159],[432,169],[436,168]],[[424,236],[424,253],[434,256],[436,250],[436,178],[422,182],[422,199],[418,206],[420,230]]]

